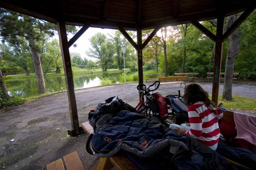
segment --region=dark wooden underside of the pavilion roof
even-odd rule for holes
[[[150,29],[244,11],[251,0],[1,0],[0,6],[56,23]]]

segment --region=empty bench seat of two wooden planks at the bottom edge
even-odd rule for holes
[[[76,152],[63,156],[67,170],[85,170]],[[62,159],[47,164],[47,170],[65,170]]]

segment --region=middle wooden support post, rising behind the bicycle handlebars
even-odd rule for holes
[[[142,67],[142,30],[137,29],[137,56],[138,56],[138,74],[139,74],[139,84],[143,84],[143,67]],[[141,94],[140,94],[141,99]]]

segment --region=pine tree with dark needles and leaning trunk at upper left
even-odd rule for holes
[[[0,18],[0,35],[3,40],[8,41],[10,44],[20,44],[20,41],[24,40],[19,37],[25,38],[24,42],[30,47],[32,55],[38,83],[38,92],[39,94],[44,93],[46,88],[40,60],[40,52],[42,52],[40,41],[45,41],[46,36],[53,36],[55,34],[56,25],[3,8],[0,8]],[[75,32],[76,28],[71,26],[67,27],[67,30]]]

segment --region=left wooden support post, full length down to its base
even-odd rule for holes
[[[73,82],[73,75],[72,75],[72,69],[71,69],[68,38],[67,38],[65,22],[58,21],[57,28],[58,28],[58,34],[59,34],[63,68],[64,68],[65,79],[66,79],[66,86],[67,86],[67,93],[68,93],[68,100],[69,100],[69,112],[71,117],[72,128],[68,130],[68,134],[74,136],[79,134],[79,121],[78,121],[78,115],[77,115],[74,82]]]

